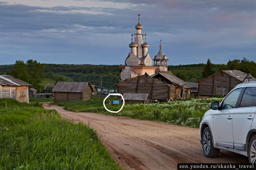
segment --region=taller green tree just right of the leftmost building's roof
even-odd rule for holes
[[[40,89],[41,82],[45,78],[44,75],[44,65],[40,62],[37,63],[36,60],[29,59],[26,62],[29,74],[28,83],[33,86],[35,89]]]

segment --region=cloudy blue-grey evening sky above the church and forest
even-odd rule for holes
[[[1,2],[2,1],[2,2]],[[256,59],[255,0],[0,0],[0,65],[124,64],[135,25],[168,65]]]

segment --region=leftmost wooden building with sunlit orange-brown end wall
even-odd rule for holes
[[[0,76],[0,98],[12,98],[28,103],[28,86],[30,84],[10,75]]]

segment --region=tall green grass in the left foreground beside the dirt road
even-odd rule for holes
[[[40,104],[0,99],[0,169],[120,168],[89,126]]]

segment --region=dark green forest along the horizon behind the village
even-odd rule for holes
[[[210,64],[210,65],[209,65]],[[100,87],[100,78],[102,76],[102,88],[107,90],[117,90],[114,84],[118,83],[122,69],[120,65],[92,65],[92,64],[45,64],[44,74],[46,81],[90,81],[92,85]],[[227,64],[208,63],[211,67],[211,73],[217,73],[221,70],[241,70],[250,73],[256,77],[256,63],[249,61],[245,57],[241,60],[229,60]],[[14,64],[0,65],[0,75],[9,74]],[[204,78],[203,72],[205,63],[187,64],[187,65],[169,65],[168,71],[171,71],[178,78],[196,82]]]

